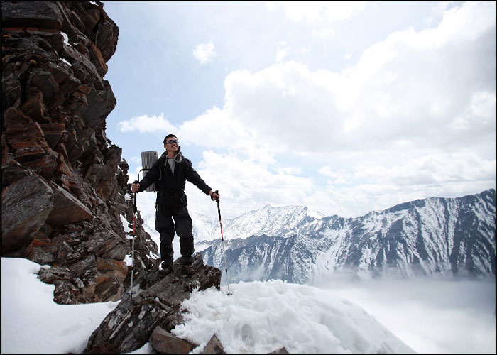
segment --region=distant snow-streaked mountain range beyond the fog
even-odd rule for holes
[[[230,280],[312,283],[349,269],[359,275],[393,272],[405,277],[495,275],[495,195],[491,189],[433,197],[349,219],[311,217],[303,213],[305,207],[278,207],[278,214],[249,212],[243,219],[223,221]],[[202,253],[206,263],[224,269],[217,239]]]

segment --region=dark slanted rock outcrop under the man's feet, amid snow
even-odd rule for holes
[[[180,263],[175,261],[173,273],[165,277],[160,275],[158,269],[142,273],[133,283],[134,294],[127,293],[105,317],[89,338],[85,352],[128,353],[141,348],[152,336],[162,342],[158,340],[160,335],[182,324],[181,302],[188,299],[193,290],[212,287],[219,290],[221,271],[204,265],[200,253],[195,256],[193,268],[195,275],[182,275]],[[161,329],[153,335],[157,327]],[[178,348],[166,351],[161,346],[160,351],[175,353]]]

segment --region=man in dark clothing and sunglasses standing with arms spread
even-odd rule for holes
[[[169,134],[164,138],[164,149],[163,155],[148,170],[143,180],[133,183],[131,192],[144,191],[156,182],[155,229],[160,234],[160,258],[162,259],[160,273],[168,275],[173,272],[173,239],[176,227],[176,234],[180,237],[182,272],[186,275],[193,275],[193,224],[187,209],[185,182],[186,180],[192,182],[206,195],[209,195],[212,201],[218,200],[219,194],[212,191],[192,168],[192,162],[180,153],[181,147],[174,134]]]

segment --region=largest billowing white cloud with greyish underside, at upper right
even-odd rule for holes
[[[493,108],[495,82],[488,73],[495,72],[495,57],[488,60],[488,53],[495,42],[483,35],[495,29],[495,15],[492,22],[486,12],[495,4],[475,6],[451,9],[437,28],[389,35],[343,72],[293,61],[231,72],[225,107],[258,136],[287,146],[304,138],[312,142],[303,147],[310,152],[493,141],[495,110],[486,120],[474,113]],[[453,18],[474,25],[473,35],[461,35],[466,27]]]

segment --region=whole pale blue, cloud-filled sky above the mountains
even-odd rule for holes
[[[119,26],[107,136],[131,178],[172,132],[226,216],[300,204],[356,217],[496,185],[494,1],[104,9]],[[190,210],[215,216],[188,185]]]

